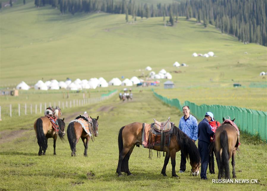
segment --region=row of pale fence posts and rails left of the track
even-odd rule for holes
[[[67,100],[67,101],[58,101],[58,102],[53,102],[53,105],[51,105],[51,102],[45,102],[45,103],[36,103],[36,104],[18,104],[18,105],[8,105],[6,107],[3,108],[3,106],[0,106],[0,121],[1,121],[1,114],[2,116],[21,116],[21,114],[23,115],[23,110],[24,110],[24,115],[29,115],[29,114],[37,114],[37,113],[44,113],[45,109],[47,108],[47,106],[53,106],[54,108],[56,107],[56,103],[58,103],[58,106],[61,107],[61,109],[65,109],[65,108],[74,108],[74,107],[80,107],[80,106],[84,106],[84,105],[88,105],[88,104],[92,104],[92,103],[97,103],[97,102],[101,102],[103,100],[106,100],[108,98],[110,98],[111,96],[113,96],[115,93],[117,92],[117,90],[113,90],[110,91],[107,94],[101,94],[100,97],[91,97],[91,98],[83,98],[80,100]],[[1,113],[2,110],[2,113]]]

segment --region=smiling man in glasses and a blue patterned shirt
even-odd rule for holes
[[[182,130],[187,136],[195,141],[198,139],[198,121],[197,119],[190,114],[190,109],[188,105],[183,107],[184,116],[181,117],[179,121],[179,129]],[[179,173],[183,173],[186,169],[186,158],[181,153],[181,163],[180,163],[180,171]]]

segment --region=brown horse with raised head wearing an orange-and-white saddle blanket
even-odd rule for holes
[[[91,118],[91,116],[90,116]],[[99,116],[97,116],[96,119],[91,118],[91,123],[89,125],[92,126],[92,135],[95,137],[98,136],[98,120]],[[76,156],[76,144],[78,143],[79,139],[81,138],[83,141],[83,146],[84,146],[84,153],[83,155],[87,157],[87,148],[88,148],[88,143],[90,140],[89,134],[83,129],[82,125],[78,122],[71,122],[68,125],[67,129],[67,135],[68,135],[68,140],[69,140],[69,146],[71,149],[71,156]],[[93,138],[92,138],[93,141]]]

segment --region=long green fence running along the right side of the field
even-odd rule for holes
[[[178,99],[168,99],[162,95],[157,94],[152,89],[154,95],[168,105],[174,106],[182,111],[183,105]],[[222,117],[230,116],[235,119],[236,125],[241,131],[245,131],[250,135],[259,135],[260,138],[266,142],[267,139],[267,112],[257,111],[246,108],[238,108],[236,106],[225,105],[196,105],[195,103],[185,101],[184,105],[188,105],[190,113],[197,119],[203,119],[205,113],[210,111],[214,114],[216,120],[222,121]]]

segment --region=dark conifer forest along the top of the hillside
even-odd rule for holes
[[[149,2],[149,1],[146,1]],[[160,2],[160,1],[159,1]],[[181,0],[170,4],[161,1],[157,5],[136,0],[34,0],[35,7],[50,5],[62,14],[78,12],[107,12],[136,17],[196,18],[197,23],[216,26],[222,33],[231,34],[244,43],[255,42],[267,46],[266,0]]]

